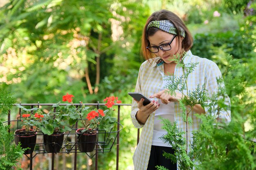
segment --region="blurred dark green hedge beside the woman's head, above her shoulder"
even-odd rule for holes
[[[248,31],[228,31],[225,33],[205,33],[195,35],[193,54],[213,60],[218,55],[218,51],[233,55],[234,58],[247,60],[252,57],[255,49],[252,32]]]

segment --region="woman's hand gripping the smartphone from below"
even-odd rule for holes
[[[135,99],[134,99],[135,100]],[[150,102],[150,104],[147,104],[146,106],[143,105],[144,99],[141,98],[140,101],[135,100],[138,104],[138,112],[136,114],[136,119],[141,123],[145,124],[149,115],[153,113],[155,110],[157,110],[160,106],[160,104],[153,100]]]

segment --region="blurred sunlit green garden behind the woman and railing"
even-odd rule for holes
[[[239,59],[237,64],[246,69],[232,74],[243,77],[238,84],[247,93],[243,104],[256,101],[255,1],[0,0],[0,7],[0,89],[14,93],[18,102],[57,103],[69,93],[74,103],[102,103],[115,95],[130,104],[128,92],[134,91],[144,61],[142,30],[159,9],[184,20],[194,38],[192,53],[213,60],[222,73],[228,54]],[[239,107],[238,102],[231,104]],[[255,113],[254,106],[247,110]],[[121,110],[121,124],[119,169],[132,170],[137,129],[128,106]],[[245,125],[250,128],[247,121]],[[115,167],[112,150],[99,155],[100,170]],[[79,158],[79,169],[85,168],[79,166],[84,159]],[[38,160],[34,166],[47,169]]]

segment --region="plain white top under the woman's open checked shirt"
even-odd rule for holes
[[[163,83],[161,91],[164,90],[165,86],[167,85],[166,76],[163,76]],[[154,129],[153,129],[153,141],[152,145],[154,146],[166,146],[171,147],[170,144],[164,143],[162,139],[159,139],[159,137],[162,137],[163,135],[166,135],[166,130],[162,129],[163,124],[161,123],[162,120],[159,119],[159,116],[164,119],[169,119],[171,122],[174,122],[174,103],[170,102],[168,104],[163,104],[161,100],[158,100],[158,103],[160,104],[159,108],[155,111],[155,121],[154,121]]]

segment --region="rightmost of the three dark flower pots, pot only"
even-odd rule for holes
[[[77,135],[77,146],[80,152],[92,152],[95,148],[98,131],[90,130],[81,133],[84,128],[80,128],[76,130]]]

